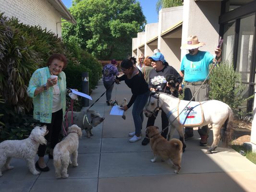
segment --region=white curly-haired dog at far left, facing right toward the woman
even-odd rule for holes
[[[0,143],[0,177],[2,176],[1,168],[5,166],[12,169],[10,160],[12,157],[20,158],[27,161],[28,169],[33,175],[40,172],[35,168],[35,156],[39,144],[47,144],[44,136],[48,133],[46,125],[43,127],[36,126],[29,137],[24,140],[6,140]]]

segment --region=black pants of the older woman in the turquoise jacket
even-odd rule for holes
[[[45,135],[45,139],[47,142],[50,142],[50,148],[53,149],[56,144],[59,142],[59,136],[61,132],[61,126],[62,126],[62,120],[63,120],[63,111],[62,109],[59,111],[56,111],[51,114],[51,123],[41,123],[42,125],[46,125],[48,129],[48,134]],[[38,156],[43,157],[45,156],[47,145],[40,144],[38,147]]]

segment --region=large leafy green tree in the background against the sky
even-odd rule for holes
[[[77,24],[62,24],[65,42],[76,39],[99,60],[123,59],[132,38],[144,30],[146,18],[135,0],[73,0],[70,12]]]

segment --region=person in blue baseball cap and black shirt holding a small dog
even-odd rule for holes
[[[148,59],[151,60],[151,65],[153,67],[153,69],[149,72],[149,78],[147,82],[149,90],[160,91],[160,92],[178,97],[178,91],[175,93],[171,92],[169,87],[170,85],[167,84],[166,78],[168,75],[172,75],[176,77],[177,83],[180,84],[182,82],[181,75],[164,60],[164,55],[160,52],[154,53],[153,56],[149,57]],[[162,76],[161,79],[165,79],[165,81],[163,83],[158,84],[157,86],[158,88],[157,88],[156,85],[154,84],[154,80],[158,76]],[[155,117],[151,116],[148,118],[146,127],[154,125],[157,115],[158,115],[158,112],[156,113]],[[162,130],[163,130],[169,124],[169,120],[163,111],[161,112],[161,120],[162,120]],[[168,129],[164,130],[164,132],[161,133],[161,135],[164,138],[167,137],[167,134],[168,134]],[[141,144],[146,145],[148,143],[149,143],[149,139],[145,137]]]

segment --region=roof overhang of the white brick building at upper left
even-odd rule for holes
[[[61,0],[48,0],[48,2],[61,14],[61,18],[69,21],[72,24],[76,24],[72,14],[68,11]]]

